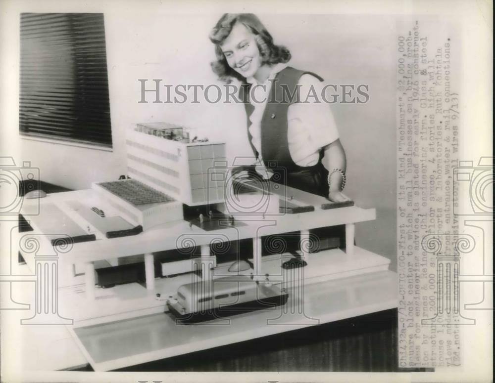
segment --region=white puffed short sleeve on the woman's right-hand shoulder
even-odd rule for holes
[[[301,102],[292,104],[287,115],[289,151],[297,165],[312,166],[320,149],[339,138],[339,131],[330,105],[321,96],[325,83],[305,74],[298,84]]]

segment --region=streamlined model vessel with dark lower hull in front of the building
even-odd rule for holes
[[[166,303],[178,323],[190,324],[284,305],[287,297],[268,278],[233,275],[182,285]]]

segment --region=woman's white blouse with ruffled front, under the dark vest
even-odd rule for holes
[[[270,178],[272,172],[264,168],[261,159],[261,118],[270,95],[272,84],[270,80],[273,80],[277,73],[287,66],[287,64],[282,63],[276,64],[263,86],[258,85],[253,77],[246,79],[252,87],[250,103],[254,106],[254,110],[249,117],[251,122],[249,133],[252,136],[251,142],[259,156],[256,170],[264,178]],[[324,83],[310,74],[304,74],[300,77],[298,84],[300,85],[300,99],[308,102],[294,103],[289,106],[287,112],[287,139],[292,160],[298,166],[309,167],[318,163],[319,151],[322,147],[339,138],[339,131],[335,125],[330,105],[321,97]],[[311,87],[313,87],[315,93],[313,93]],[[312,94],[316,94],[319,102],[315,100]]]

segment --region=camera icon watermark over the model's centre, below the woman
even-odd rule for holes
[[[217,205],[219,213],[242,219],[284,215],[287,170],[275,162],[267,165],[267,168],[253,165],[229,167],[226,161],[214,162],[214,166],[208,169],[207,183],[208,190],[219,190],[219,199],[223,201]],[[208,203],[214,200],[208,193]]]

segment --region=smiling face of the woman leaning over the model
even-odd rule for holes
[[[229,66],[245,78],[254,76],[261,67],[261,55],[254,35],[242,23],[234,24],[220,48]]]

